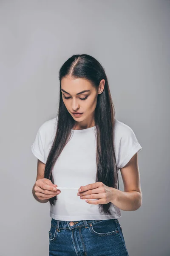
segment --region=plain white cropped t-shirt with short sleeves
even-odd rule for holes
[[[133,130],[115,119],[115,154],[118,170],[142,149]],[[46,163],[56,133],[56,117],[44,122],[31,145],[35,157]],[[112,205],[112,215],[101,214],[98,204],[88,204],[77,195],[80,186],[96,181],[96,137],[94,127],[72,130],[71,139],[63,148],[54,165],[52,175],[61,193],[55,206],[50,205],[50,216],[60,221],[104,220],[121,217],[118,207]],[[94,200],[94,199],[93,199]]]

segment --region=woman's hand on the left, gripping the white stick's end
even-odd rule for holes
[[[57,189],[57,185],[54,185],[49,179],[39,179],[36,180],[34,186],[35,195],[40,200],[46,200],[54,197],[55,195],[59,195],[61,192]]]

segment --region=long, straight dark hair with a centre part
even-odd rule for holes
[[[73,79],[87,79],[96,88],[99,87],[100,81],[105,79],[104,90],[97,96],[94,114],[97,164],[96,182],[101,181],[106,186],[119,189],[118,169],[113,140],[115,108],[112,102],[105,69],[96,58],[88,54],[72,55],[59,70],[60,96],[57,111],[57,130],[46,161],[44,177],[54,183],[52,169],[62,149],[70,140],[71,129],[76,122],[68,112],[62,100],[61,80],[65,76],[71,76]],[[57,196],[54,196],[49,199],[49,202],[51,205],[55,205],[56,200]],[[108,204],[99,204],[99,209],[101,209],[101,212],[104,212],[104,214],[111,215],[111,204],[111,202]]]

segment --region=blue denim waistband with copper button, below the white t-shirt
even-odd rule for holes
[[[85,227],[88,228],[90,224],[94,222],[111,222],[113,221],[119,222],[118,219],[105,219],[105,220],[82,220],[82,221],[59,221],[55,220],[54,218],[51,218],[51,225],[57,229],[57,231],[60,231],[60,229],[68,229],[72,230],[77,227]]]

